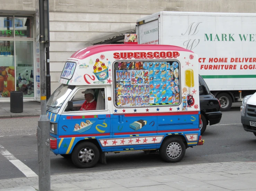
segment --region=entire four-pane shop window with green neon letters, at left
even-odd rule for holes
[[[0,99],[11,91],[34,99],[33,22],[32,16],[0,16]]]

